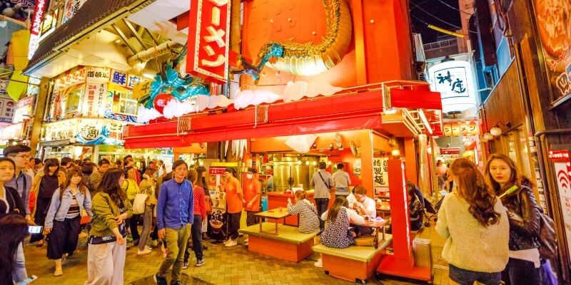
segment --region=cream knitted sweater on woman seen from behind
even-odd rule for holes
[[[507,264],[510,239],[510,223],[502,202],[497,199],[494,206],[495,212],[501,214],[500,221],[488,227],[482,227],[468,207],[470,204],[455,192],[444,197],[436,223],[436,232],[446,239],[443,258],[460,269],[502,271]]]

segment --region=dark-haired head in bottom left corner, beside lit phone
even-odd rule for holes
[[[14,256],[19,244],[24,242],[27,236],[28,224],[21,214],[0,216],[0,285],[14,285],[12,281],[12,272],[16,265]]]

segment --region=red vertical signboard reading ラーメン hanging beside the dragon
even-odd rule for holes
[[[214,83],[228,81],[230,1],[191,1],[186,72]]]

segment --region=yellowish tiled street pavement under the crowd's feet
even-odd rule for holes
[[[448,285],[448,265],[441,260],[444,239],[435,233],[434,225],[425,228],[419,235],[423,239],[432,240],[433,282]],[[87,277],[86,239],[80,239],[80,245],[73,257],[64,264],[64,276],[53,275],[54,263],[46,258],[46,246],[36,248],[34,244],[26,244],[26,268],[29,275],[37,275],[39,279],[33,284],[84,284]],[[296,263],[284,261],[261,254],[248,252],[240,243],[238,247],[226,248],[223,245],[212,245],[207,241],[208,249],[204,252],[206,264],[194,267],[196,259],[191,259],[191,267],[183,270],[183,284],[352,284],[325,275],[323,269],[316,268],[313,263],[318,254]],[[276,249],[279,250],[279,249]],[[191,254],[193,257],[193,254]],[[138,257],[136,247],[127,249],[124,271],[125,284],[155,284],[152,275],[161,263],[161,250],[156,248],[152,254]],[[392,276],[375,276],[368,284],[423,284],[413,280],[397,279]],[[424,283],[425,284],[425,283]]]

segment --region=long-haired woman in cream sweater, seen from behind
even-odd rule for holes
[[[502,202],[470,160],[459,158],[450,170],[456,191],[444,197],[436,223],[436,232],[446,239],[442,255],[450,279],[500,284],[510,230]]]

